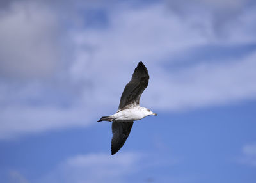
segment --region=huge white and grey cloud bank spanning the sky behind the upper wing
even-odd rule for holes
[[[0,10],[0,72],[17,79],[17,84],[4,79],[0,82],[1,139],[87,126],[101,115],[114,113],[138,61],[143,61],[150,72],[141,105],[156,112],[256,97],[255,53],[211,63],[205,56],[200,63],[185,63],[172,71],[166,68],[172,54],[182,56],[212,43],[232,45],[255,40],[252,9],[239,13],[241,24],[225,28],[229,36],[219,38],[214,34],[211,13],[203,11],[184,19],[161,3],[140,7],[117,4],[106,10],[108,25],[104,28],[61,27],[67,37],[63,47],[72,49],[60,53],[60,37],[56,34],[65,8],[54,11],[54,6],[38,2],[13,1],[8,10]],[[83,22],[83,16],[77,13],[72,20]],[[70,61],[64,62],[60,54]],[[175,60],[171,62],[175,64]],[[48,80],[41,78],[48,76]],[[27,80],[19,82],[19,77]],[[36,84],[30,81],[34,77],[39,78]],[[29,103],[35,100],[40,101],[39,106]],[[62,104],[63,100],[68,106]]]

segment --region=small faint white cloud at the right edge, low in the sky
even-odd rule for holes
[[[242,152],[239,163],[256,167],[256,143],[244,145]]]

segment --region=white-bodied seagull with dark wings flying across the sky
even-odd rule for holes
[[[135,68],[132,79],[125,86],[118,111],[110,116],[103,116],[98,122],[112,122],[111,155],[114,155],[124,145],[128,138],[133,122],[156,113],[145,107],[140,107],[140,96],[148,86],[148,70],[140,61]]]

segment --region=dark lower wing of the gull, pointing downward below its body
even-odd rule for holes
[[[122,148],[131,132],[132,125],[133,122],[112,122],[111,155]]]

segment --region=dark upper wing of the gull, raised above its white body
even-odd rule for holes
[[[148,86],[148,79],[148,70],[140,61],[132,74],[131,81],[124,88],[118,110],[129,104],[140,104],[140,96]]]

